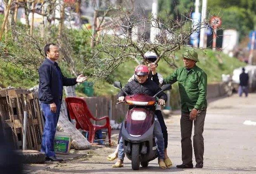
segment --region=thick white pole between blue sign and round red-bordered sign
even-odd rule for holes
[[[207,0],[203,0],[202,12],[201,12],[201,23],[205,22],[206,10],[207,10]],[[199,47],[202,47],[202,48],[206,48],[207,37],[205,35],[205,30],[206,30],[205,26],[202,26],[200,29]]]

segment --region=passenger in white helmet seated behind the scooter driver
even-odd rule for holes
[[[156,61],[156,59],[157,59],[156,53],[154,53],[152,51],[147,51],[144,54],[144,58],[145,58],[145,62],[148,64],[149,67],[151,67],[151,66],[154,67],[155,64],[151,64],[151,63],[154,63]],[[130,77],[128,82],[136,79],[137,78],[136,76],[137,76],[136,74],[133,74],[133,76]],[[161,84],[163,83],[163,80],[164,80],[163,76],[160,73],[156,73],[155,71],[152,72],[152,78],[151,79],[153,81],[156,81],[157,84],[160,85],[160,86],[161,86]],[[162,130],[163,137],[164,137],[164,157],[165,157],[164,162],[166,164],[166,167],[171,168],[173,165],[172,165],[172,162],[171,162],[170,158],[167,155],[168,132],[167,132],[166,124],[164,122],[164,117],[163,117],[162,112],[161,112],[161,106],[159,104],[156,104],[155,114],[156,114],[157,119],[158,119],[158,121],[161,125],[161,130]],[[123,126],[123,124],[121,125],[120,131],[119,131],[119,138],[118,138],[116,150],[114,151],[114,153],[111,153],[110,155],[107,156],[107,159],[109,161],[115,160],[118,156],[118,148],[119,148],[119,141],[120,141],[120,138],[121,138],[122,126]]]

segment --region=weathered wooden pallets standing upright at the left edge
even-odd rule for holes
[[[43,134],[38,94],[24,89],[0,90],[0,124],[16,149],[22,149],[24,111],[27,111],[27,149],[40,150]]]

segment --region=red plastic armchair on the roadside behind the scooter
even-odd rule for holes
[[[109,122],[109,117],[104,116],[102,118],[95,118],[89,108],[85,100],[79,97],[67,97],[66,99],[67,108],[69,110],[69,115],[72,119],[76,120],[76,128],[83,129],[89,132],[89,142],[92,143],[94,140],[95,132],[97,130],[107,128],[109,134],[109,144],[111,143],[111,125]],[[95,121],[100,121],[106,119],[105,125],[94,125],[90,121],[90,119]]]

